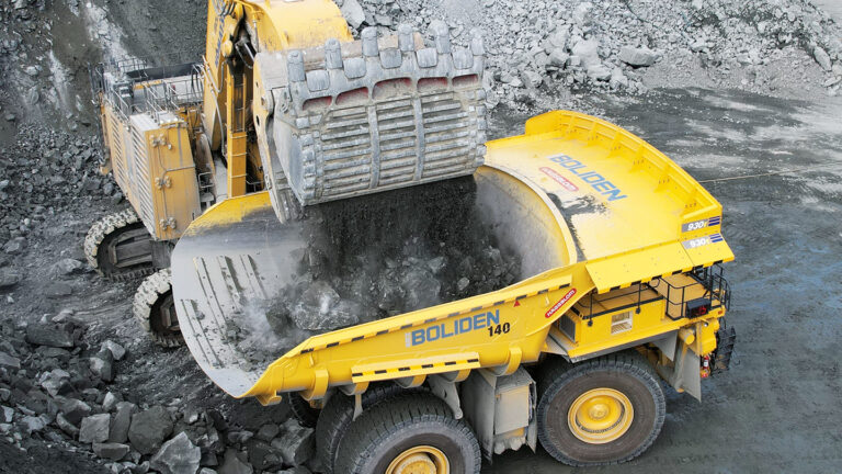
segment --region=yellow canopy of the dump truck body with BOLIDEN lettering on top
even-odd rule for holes
[[[486,161],[516,170],[550,198],[600,292],[733,259],[719,203],[616,125],[549,112],[527,121],[525,135],[490,142]]]

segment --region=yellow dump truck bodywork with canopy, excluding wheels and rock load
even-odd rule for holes
[[[221,328],[227,318],[237,317],[238,294],[230,289],[238,286],[231,282],[260,282],[260,291],[269,292],[262,297],[272,297],[271,285],[289,271],[283,263],[261,269],[272,256],[283,255],[282,247],[289,242],[280,230],[284,223],[274,224],[265,216],[266,196],[246,196],[198,219],[184,236],[190,251],[182,253],[177,246],[174,253],[182,327],[200,364],[232,395],[271,403],[282,392],[305,391],[308,398],[319,398],[335,385],[442,372],[494,368],[507,374],[536,361],[542,352],[581,360],[665,338],[699,323],[705,327],[702,332],[715,332],[715,325],[706,323],[724,315],[724,289],[712,294],[693,280],[694,291],[701,292],[694,296],[707,294],[712,300],[709,312],[702,315],[675,313],[690,298],[679,301],[672,293],[668,301],[659,289],[679,286],[672,283],[673,275],[693,279],[694,270],[733,258],[718,237],[718,224],[685,232],[686,224],[720,219],[718,203],[651,146],[594,117],[550,112],[527,122],[526,132],[489,143],[488,165],[476,180],[480,188],[488,187],[492,196],[488,201],[496,204],[488,213],[498,219],[498,237],[516,242],[524,260],[542,262],[527,272],[528,278],[493,293],[314,336],[278,354],[269,366],[243,371],[236,362],[236,348],[223,337],[210,340],[218,332],[213,325]],[[559,162],[565,151],[591,174],[572,174],[564,163],[573,158]],[[590,185],[589,176],[599,176],[593,183],[611,188]],[[277,238],[261,237],[247,256],[231,255],[224,238],[212,241],[210,236],[241,226],[269,226],[266,235]],[[707,244],[687,244],[703,240]],[[208,270],[208,261],[225,264],[213,263]],[[629,289],[634,295],[611,294]],[[583,312],[582,298],[592,293],[601,309]],[[635,308],[632,315],[629,307]],[[615,318],[618,312],[626,315]],[[614,323],[606,327],[603,321]],[[218,356],[226,349],[228,356]],[[693,349],[703,356],[715,345]]]

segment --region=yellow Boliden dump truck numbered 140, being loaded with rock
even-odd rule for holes
[[[591,116],[550,112],[487,147],[473,202],[519,252],[520,282],[312,336],[255,364],[230,327],[253,320],[253,302],[283,297],[311,216],[278,219],[265,193],[227,200],[173,253],[181,327],[202,369],[237,397],[289,393],[335,473],[474,473],[480,452],[538,441],[572,465],[644,452],[664,419],[660,379],[701,398],[702,379],[730,360],[721,206],[650,145]]]

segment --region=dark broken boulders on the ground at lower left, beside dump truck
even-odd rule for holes
[[[125,399],[130,392],[112,381],[126,349],[113,340],[91,345],[72,316],[0,321],[0,336],[3,442],[89,450],[114,473],[310,472],[312,430],[294,419],[248,431],[215,409],[189,411],[180,399],[166,406]]]

